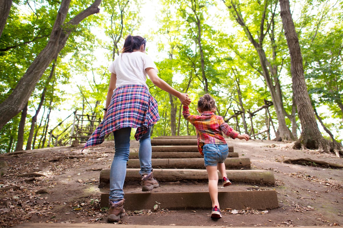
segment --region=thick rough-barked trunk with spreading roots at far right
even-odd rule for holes
[[[304,77],[303,57],[301,56],[298,35],[292,19],[289,8],[289,0],[280,1],[280,14],[282,18],[285,37],[291,56],[291,74],[294,100],[297,105],[299,119],[301,123],[301,135],[299,140],[294,144],[295,148],[322,149],[329,153],[331,148],[330,142],[325,140],[319,131],[316,116],[313,112],[310,97]]]

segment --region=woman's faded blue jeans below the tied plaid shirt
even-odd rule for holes
[[[130,134],[131,128],[121,128],[113,132],[115,154],[113,157],[109,176],[109,199],[118,201],[124,198],[124,181],[126,177],[126,163],[130,154]],[[149,174],[151,167],[151,139],[150,129],[139,140],[139,161],[141,170],[139,174]]]

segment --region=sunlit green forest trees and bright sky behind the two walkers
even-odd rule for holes
[[[281,14],[287,2],[307,112],[321,137],[341,149],[341,1],[16,0],[0,1],[0,153],[68,144],[76,110],[93,122],[102,119],[107,68],[128,34],[147,39],[159,77],[189,94],[192,114],[199,97],[210,93],[217,114],[241,133],[303,139],[310,124],[300,118],[304,104],[294,87],[301,70],[292,68],[296,41],[287,38],[291,30]],[[179,100],[147,84],[161,116],[152,137],[194,135]]]

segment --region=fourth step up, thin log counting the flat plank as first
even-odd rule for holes
[[[228,158],[238,158],[237,152],[229,152]],[[130,152],[129,159],[138,159],[138,152]],[[199,152],[152,152],[151,158],[203,158]]]

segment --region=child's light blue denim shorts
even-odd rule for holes
[[[202,152],[204,153],[205,167],[217,166],[223,163],[229,155],[227,144],[205,144]]]

